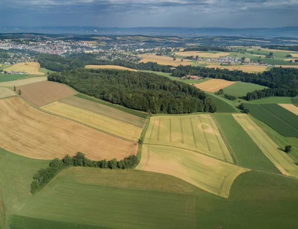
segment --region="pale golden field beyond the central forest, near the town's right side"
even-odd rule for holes
[[[159,65],[172,65],[172,66],[192,64],[192,62],[189,62],[187,60],[183,60],[183,62],[181,62],[181,59],[179,58],[177,58],[176,61],[174,61],[173,58],[171,57],[147,55],[147,54],[142,54],[139,56],[143,58],[143,60],[141,60],[140,63],[157,62],[157,64]]]

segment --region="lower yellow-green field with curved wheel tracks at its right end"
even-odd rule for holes
[[[249,169],[184,149],[143,145],[138,170],[169,174],[228,198],[235,178]]]

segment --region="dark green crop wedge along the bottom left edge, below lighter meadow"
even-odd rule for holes
[[[10,229],[108,229],[96,226],[72,224],[59,221],[41,220],[31,217],[13,215]]]

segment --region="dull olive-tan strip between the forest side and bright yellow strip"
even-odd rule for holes
[[[106,106],[104,104],[92,102],[76,96],[70,96],[70,97],[61,99],[59,100],[59,102],[66,103],[68,105],[81,108],[99,115],[103,115],[139,128],[143,128],[145,123],[144,118],[129,114],[127,112],[118,110],[110,106]]]

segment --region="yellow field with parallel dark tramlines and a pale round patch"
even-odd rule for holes
[[[151,117],[144,142],[184,148],[233,162],[210,115]]]

